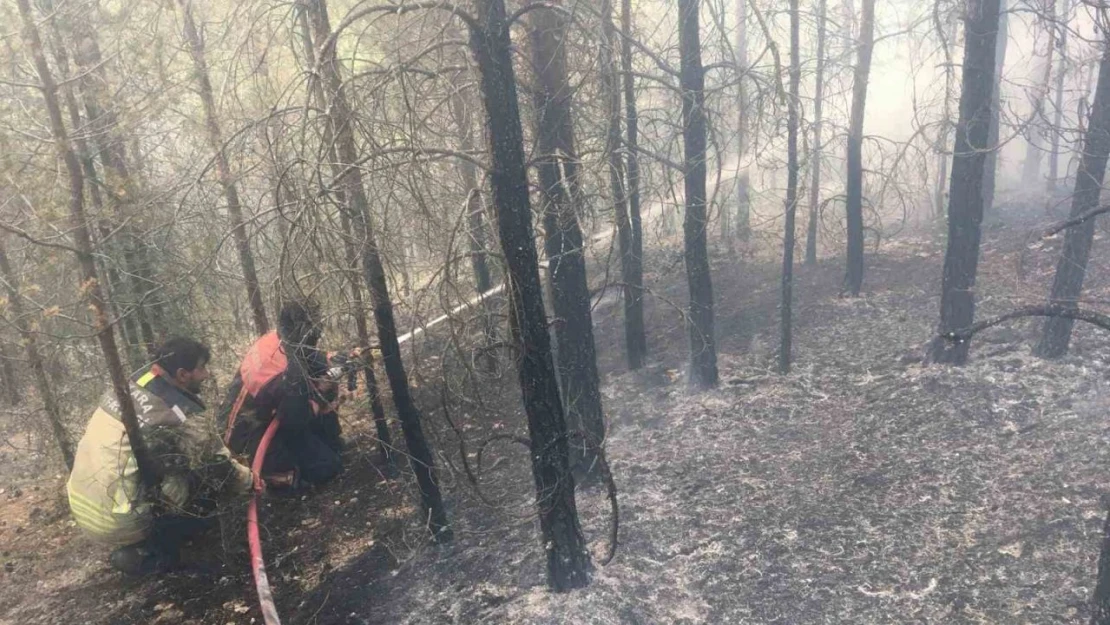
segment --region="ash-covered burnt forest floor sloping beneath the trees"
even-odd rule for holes
[[[1054,243],[988,233],[980,315],[1043,296]],[[1096,244],[1102,252],[1101,241]],[[926,367],[942,249],[890,243],[867,294],[838,298],[840,266],[800,271],[796,370],[770,371],[777,271],[715,258],[722,385],[690,395],[682,265],[653,259],[653,365],[620,367],[619,303],[595,323],[620,493],[612,564],[581,592],[543,586],[526,453],[486,451],[481,501],[461,471],[428,350],[422,405],[436,434],[456,540],[430,545],[404,480],[386,480],[360,417],[349,471],[304,498],[271,498],[268,561],[287,623],[1081,623],[1107,492],[1110,337],[1079,329],[1058,362],[1029,355],[1039,323],[978,336],[972,363]],[[1089,299],[1104,299],[1098,256]],[[1020,261],[1020,262],[1019,262]],[[1019,271],[1020,269],[1020,271]],[[515,374],[453,407],[473,454],[521,432]],[[417,376],[420,377],[420,376]],[[473,460],[473,456],[472,456]],[[133,583],[100,564],[50,493],[0,496],[12,566],[0,623],[260,623],[244,558],[214,575]],[[29,501],[40,502],[29,504]],[[492,505],[491,505],[492,504]],[[608,510],[581,493],[595,553]],[[31,518],[32,507],[39,512]]]

